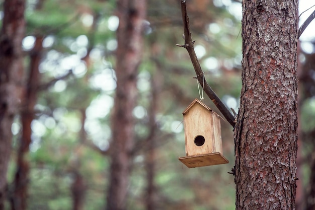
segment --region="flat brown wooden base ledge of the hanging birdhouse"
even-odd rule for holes
[[[213,166],[228,163],[228,160],[218,152],[202,155],[193,155],[187,157],[179,157],[178,160],[184,163],[188,168]]]

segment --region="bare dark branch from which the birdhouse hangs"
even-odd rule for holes
[[[203,72],[201,69],[201,66],[199,64],[198,58],[196,56],[195,50],[194,50],[194,42],[191,38],[191,33],[189,29],[189,19],[187,15],[187,9],[186,9],[186,1],[181,1],[181,7],[182,7],[182,18],[184,22],[184,38],[185,38],[185,44],[180,45],[177,44],[177,46],[184,47],[190,56],[191,62],[194,66],[197,79],[200,83],[200,85],[203,84]],[[204,92],[208,95],[208,97],[211,99],[211,101],[214,103],[214,105],[220,110],[222,115],[225,117],[225,119],[234,127],[235,125],[235,118],[232,115],[232,113],[226,108],[224,103],[219,99],[219,97],[214,93],[214,91],[211,89],[209,84],[206,80],[204,80]]]

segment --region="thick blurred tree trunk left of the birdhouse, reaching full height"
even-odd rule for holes
[[[142,53],[142,21],[145,0],[117,1],[119,26],[117,30],[116,77],[117,87],[112,115],[110,180],[107,191],[107,210],[126,209],[129,176],[134,146],[132,110],[137,100],[137,74]]]

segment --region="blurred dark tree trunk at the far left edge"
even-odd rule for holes
[[[7,170],[11,154],[11,126],[22,92],[22,39],[25,0],[6,0],[0,34],[0,209],[4,209]]]

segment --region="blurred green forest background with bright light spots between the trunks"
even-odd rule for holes
[[[312,6],[303,2],[300,14]],[[111,193],[111,113],[120,62],[115,54],[116,1],[26,3],[21,47],[24,83],[36,86],[27,96],[34,100],[34,118],[25,150],[25,110],[12,124],[6,209],[19,209],[14,207],[19,196],[27,198],[24,209],[104,209]],[[205,77],[227,107],[237,111],[242,87],[241,3],[194,0],[188,13]],[[136,147],[127,209],[234,209],[234,177],[227,173],[234,165],[234,142],[226,121],[221,121],[222,141],[229,164],[188,169],[178,161],[185,155],[182,112],[199,98],[188,54],[175,45],[184,42],[180,1],[147,1],[146,14],[138,98],[132,111]],[[301,23],[307,17],[303,13]],[[315,189],[313,28],[310,25],[299,39],[297,209],[309,208]],[[207,97],[204,103],[219,113]],[[29,170],[21,174],[25,164]]]

